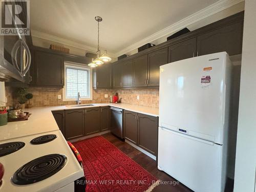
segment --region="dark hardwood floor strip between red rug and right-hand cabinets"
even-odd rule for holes
[[[146,169],[149,173],[151,173],[153,176],[155,176],[157,179],[160,179],[161,181],[172,181],[177,182],[174,178],[170,177],[169,175],[165,174],[161,170],[157,168],[157,162],[153,160],[152,158],[148,157],[147,155],[143,154],[133,146],[131,146],[128,143],[125,143],[118,139],[117,137],[113,136],[111,133],[102,135],[106,140],[110,141],[112,144],[114,144],[119,150],[121,150],[124,154],[129,156],[131,159],[133,159],[135,162],[137,162],[139,165],[141,165],[144,169]],[[170,183],[170,182],[169,182]],[[189,188],[187,188],[183,184],[160,184],[157,187],[154,188],[154,192],[165,192],[165,191],[172,191],[172,192],[186,192],[186,191],[192,191]]]

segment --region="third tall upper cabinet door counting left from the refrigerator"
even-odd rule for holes
[[[122,63],[122,87],[133,87],[133,60]]]

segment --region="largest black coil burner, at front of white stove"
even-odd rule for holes
[[[27,185],[44,180],[56,174],[67,163],[67,157],[51,154],[36,158],[20,167],[12,176],[17,185]]]

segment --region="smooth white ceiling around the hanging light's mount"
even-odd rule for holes
[[[31,0],[31,29],[117,53],[218,0]]]

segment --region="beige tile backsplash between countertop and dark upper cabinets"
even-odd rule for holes
[[[15,98],[16,88],[6,87],[7,105],[14,105],[17,103]],[[59,88],[45,88],[45,87],[30,87],[28,91],[33,94],[31,103],[33,106],[57,106],[76,104],[76,101],[63,101],[62,89]],[[115,93],[119,94],[123,103],[137,104],[143,106],[150,106],[158,108],[159,106],[159,90],[156,89],[141,89],[141,90],[93,90],[93,100],[84,100],[82,104],[86,103],[102,103],[109,102],[110,96]],[[104,94],[108,94],[108,98],[104,98]],[[58,99],[61,95],[61,99]],[[139,95],[139,100],[137,96]]]

